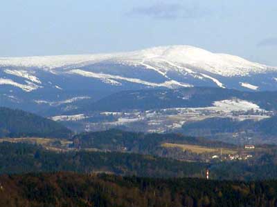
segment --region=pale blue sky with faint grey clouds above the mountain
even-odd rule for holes
[[[276,0],[8,0],[0,56],[191,45],[277,66]]]

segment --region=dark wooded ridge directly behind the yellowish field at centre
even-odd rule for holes
[[[234,148],[233,144],[226,144],[221,141],[211,141],[201,137],[188,137],[176,133],[158,134],[142,132],[126,132],[123,130],[111,129],[102,132],[84,132],[73,137],[76,147],[98,148],[106,150],[118,150],[128,148],[132,150],[150,150],[160,146],[162,143],[170,142],[175,144],[193,144],[199,146],[213,146]]]

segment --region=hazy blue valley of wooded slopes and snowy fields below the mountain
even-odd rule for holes
[[[263,126],[275,123],[275,95],[220,88],[123,91],[98,101],[73,103],[73,110],[51,119],[75,132],[119,128],[181,132],[238,145],[274,144],[274,132]]]

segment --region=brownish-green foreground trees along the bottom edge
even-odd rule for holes
[[[0,177],[0,206],[217,207],[277,205],[277,181],[151,179],[69,172]]]

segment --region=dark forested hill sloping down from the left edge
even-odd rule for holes
[[[0,107],[0,137],[69,138],[71,130],[55,121],[22,110]]]

